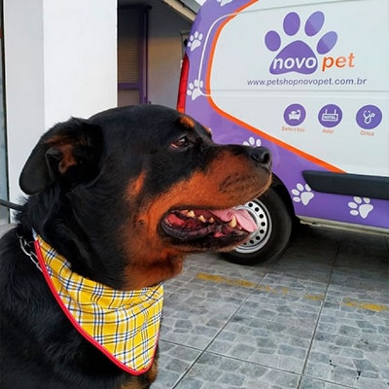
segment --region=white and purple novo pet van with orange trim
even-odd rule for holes
[[[389,232],[389,1],[207,0],[177,108],[215,142],[272,151],[272,187],[242,205],[258,224],[227,256],[254,264],[295,220]]]

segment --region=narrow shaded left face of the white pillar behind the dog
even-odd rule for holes
[[[42,0],[5,0],[4,49],[8,188],[17,201],[17,177],[44,129]]]

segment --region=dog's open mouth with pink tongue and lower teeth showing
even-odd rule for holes
[[[223,249],[244,242],[257,229],[245,209],[172,210],[163,217],[163,231],[176,244],[198,249]]]

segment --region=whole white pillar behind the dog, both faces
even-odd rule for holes
[[[117,104],[116,1],[3,0],[10,200],[44,131]]]

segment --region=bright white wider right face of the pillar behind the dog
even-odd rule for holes
[[[46,124],[116,106],[116,1],[44,0],[44,4]]]

